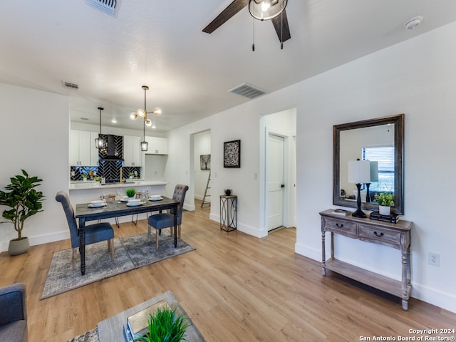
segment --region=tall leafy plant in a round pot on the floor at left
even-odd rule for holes
[[[43,180],[38,177],[28,177],[25,170],[21,170],[22,175],[11,177],[11,183],[6,185],[5,190],[0,190],[0,204],[10,207],[1,214],[4,219],[8,219],[14,224],[18,237],[9,242],[8,252],[10,255],[23,254],[28,251],[28,237],[22,237],[22,229],[28,217],[41,212],[43,207],[43,192],[36,191],[35,187]],[[5,223],[5,222],[1,222]]]

